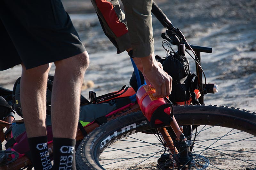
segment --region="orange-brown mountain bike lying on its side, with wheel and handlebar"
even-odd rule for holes
[[[203,83],[201,52],[211,53],[212,48],[188,44],[180,29],[172,25],[155,3],[152,13],[167,28],[162,34],[165,41],[174,46],[183,43],[187,50],[195,53],[197,84],[202,94],[199,104],[169,103],[172,113],[166,120],[157,117],[164,124],[155,125],[152,123],[154,120],[146,119],[134,101],[86,126],[80,126],[76,135],[79,144],[76,147],[76,168],[255,169],[256,113],[234,107],[204,105],[204,94],[213,93],[214,87],[208,88],[206,82]],[[115,98],[123,99],[124,96],[119,94],[127,90],[122,88],[101,98],[91,92],[90,103],[93,106],[95,103],[113,102]],[[8,97],[12,95],[11,90],[0,88],[0,95],[12,100]],[[161,109],[155,115],[159,113]],[[9,128],[12,118],[6,121],[1,121],[1,126]],[[5,138],[8,140],[10,137],[7,135]],[[52,143],[48,146],[52,155]],[[1,164],[0,169],[32,168],[26,155],[18,157],[14,151],[8,152],[7,162]]]

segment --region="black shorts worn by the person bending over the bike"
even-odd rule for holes
[[[1,0],[0,70],[26,69],[85,51],[60,0]]]

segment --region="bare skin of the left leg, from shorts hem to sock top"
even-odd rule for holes
[[[26,70],[22,64],[20,103],[28,137],[46,136],[46,88],[51,64]]]

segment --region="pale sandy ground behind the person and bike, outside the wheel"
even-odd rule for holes
[[[156,1],[175,27],[193,45],[213,48],[202,54],[207,83],[219,85],[219,92],[207,94],[205,103],[228,105],[256,111],[256,1],[172,0]],[[132,66],[124,52],[116,49],[104,35],[89,1],[63,1],[79,35],[90,54],[90,66],[84,78],[82,94],[89,90],[102,95],[129,85]],[[84,10],[85,9],[85,10]],[[155,54],[165,56],[161,33],[165,30],[153,17]],[[192,59],[190,70],[195,71]],[[54,73],[54,66],[51,73]],[[21,67],[0,71],[0,85],[12,89]],[[91,83],[93,82],[93,83]],[[92,86],[94,84],[94,86]],[[255,143],[252,145],[255,146]],[[224,168],[224,167],[223,167]]]

